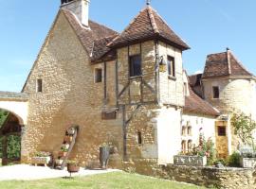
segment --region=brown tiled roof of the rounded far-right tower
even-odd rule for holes
[[[208,55],[203,77],[246,76],[251,73],[237,60],[230,50]]]

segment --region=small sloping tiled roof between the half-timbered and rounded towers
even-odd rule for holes
[[[190,88],[190,95],[185,97],[185,107],[183,112],[185,113],[195,113],[203,115],[218,116],[220,112],[214,109],[210,103],[203,100],[197,94],[194,94],[192,88]]]

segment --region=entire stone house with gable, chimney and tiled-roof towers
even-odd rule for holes
[[[256,95],[255,77],[229,51],[228,63],[211,55],[203,75],[188,77],[182,52],[189,45],[150,5],[118,33],[89,20],[89,0],[61,2],[22,90],[27,96],[23,163],[36,151],[57,156],[66,129],[74,125],[80,130],[71,158],[82,165],[98,161],[105,143],[117,149],[113,167],[173,163],[174,155],[197,145],[200,133],[216,143],[220,154],[230,153],[231,135],[223,139],[216,133],[220,114],[228,113],[222,97],[230,103],[231,92],[237,99],[241,83],[245,94]],[[216,75],[219,69],[228,74]],[[210,97],[216,86],[219,102]],[[243,101],[236,105],[240,109]],[[230,146],[223,149],[226,142]]]

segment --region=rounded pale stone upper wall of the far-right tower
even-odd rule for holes
[[[205,98],[222,113],[242,111],[255,117],[255,81],[249,78],[204,79]],[[213,99],[212,86],[219,86],[220,98]]]

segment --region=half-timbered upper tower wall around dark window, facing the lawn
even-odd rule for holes
[[[129,57],[133,55],[141,56],[141,77],[129,76]],[[149,41],[137,43],[131,46],[118,49],[118,75],[119,94],[127,87],[119,98],[119,104],[130,104],[138,102],[155,102],[156,95],[145,84],[141,86],[141,78],[153,89],[155,89],[155,43]],[[129,85],[131,83],[131,85]],[[138,89],[132,89],[137,84]],[[142,88],[140,91],[140,87]],[[137,91],[137,93],[132,93]]]

